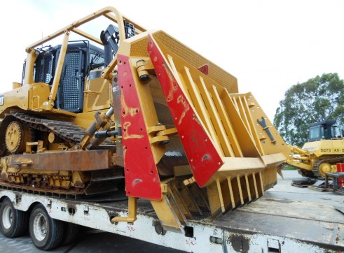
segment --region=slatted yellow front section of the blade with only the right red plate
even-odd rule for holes
[[[211,212],[249,203],[275,185],[289,149],[254,96],[236,93],[235,78],[163,31],[149,34],[148,51]]]

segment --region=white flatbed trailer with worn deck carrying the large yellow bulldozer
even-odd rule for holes
[[[139,200],[138,219],[113,223],[128,215],[128,201],[118,194],[102,201],[46,196],[2,186],[0,199],[18,210],[41,203],[53,219],[144,240],[185,252],[343,252],[343,195],[292,187],[296,171],[266,191],[259,201],[221,217],[194,217],[184,233],[164,231],[149,201]]]

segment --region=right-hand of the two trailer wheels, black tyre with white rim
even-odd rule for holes
[[[60,245],[63,238],[64,223],[48,215],[46,208],[39,204],[32,210],[29,231],[32,242],[40,250],[52,250]]]

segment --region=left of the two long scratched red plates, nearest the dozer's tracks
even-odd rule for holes
[[[153,159],[129,58],[124,55],[118,55],[118,82],[121,89],[121,123],[127,195],[160,200],[161,187],[158,170]]]

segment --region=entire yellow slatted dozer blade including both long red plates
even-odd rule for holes
[[[127,195],[150,199],[165,229],[234,210],[276,184],[289,148],[254,96],[205,57],[147,31],[123,41],[118,83]]]

